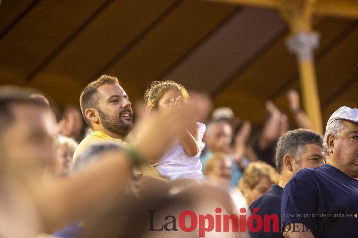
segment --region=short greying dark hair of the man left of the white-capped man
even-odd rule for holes
[[[308,129],[296,129],[287,131],[277,142],[276,148],[276,168],[279,173],[284,166],[284,156],[286,154],[295,158],[296,163],[300,163],[302,154],[305,152],[306,145],[315,144],[322,146],[323,136],[318,132]]]

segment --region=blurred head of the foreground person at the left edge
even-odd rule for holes
[[[34,92],[15,86],[0,88],[1,168],[18,174],[52,163],[55,119],[48,104]]]

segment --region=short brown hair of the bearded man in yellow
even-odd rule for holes
[[[86,87],[84,87],[81,96],[79,97],[79,105],[81,106],[81,112],[84,120],[87,122],[88,126],[92,128],[91,122],[85,115],[85,111],[88,108],[96,108],[98,109],[98,91],[97,88],[104,84],[118,84],[118,79],[109,75],[102,75],[95,81],[88,83]]]

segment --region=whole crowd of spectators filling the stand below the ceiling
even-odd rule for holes
[[[339,108],[319,135],[290,90],[299,129],[267,100],[253,138],[249,121],[212,112],[179,83],[152,82],[135,123],[129,96],[108,75],[61,110],[34,90],[0,88],[0,237],[198,237],[200,226],[205,237],[358,235],[354,216],[282,216],[357,213],[358,109]],[[199,233],[186,232],[183,211],[276,214],[277,229],[223,233],[199,217]]]

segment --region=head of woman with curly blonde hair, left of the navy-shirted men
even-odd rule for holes
[[[239,189],[250,205],[262,194],[270,190],[272,184],[279,182],[279,173],[271,165],[263,161],[251,162],[246,168]]]

